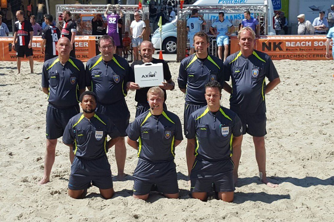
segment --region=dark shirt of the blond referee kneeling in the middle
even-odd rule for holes
[[[129,124],[126,133],[133,141],[139,139],[138,157],[150,163],[174,160],[174,140],[183,140],[179,117],[167,110],[158,116],[151,111],[139,115]]]

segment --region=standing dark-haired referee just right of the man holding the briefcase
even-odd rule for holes
[[[193,40],[196,53],[182,60],[177,79],[180,90],[185,93],[184,131],[190,114],[206,106],[205,84],[214,80],[221,85],[224,82],[223,62],[207,52],[209,36],[205,32],[197,32]],[[195,160],[194,149],[194,145],[187,141],[188,175]]]

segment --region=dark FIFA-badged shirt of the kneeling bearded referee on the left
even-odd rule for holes
[[[95,113],[88,119],[79,113],[68,121],[62,140],[74,144],[75,156],[94,160],[108,152],[107,135],[112,139],[120,135],[108,116]]]

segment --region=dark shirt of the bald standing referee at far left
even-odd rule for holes
[[[77,105],[79,89],[85,89],[85,66],[75,58],[62,65],[58,57],[49,59],[43,64],[42,87],[49,88],[47,101],[58,108]]]

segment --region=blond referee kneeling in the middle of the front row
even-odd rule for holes
[[[168,198],[178,198],[175,147],[183,140],[177,115],[163,110],[164,91],[152,87],[147,92],[151,107],[127,128],[128,144],[138,150],[138,164],[133,173],[133,196],[146,200],[152,186]],[[137,142],[139,140],[139,142]]]

